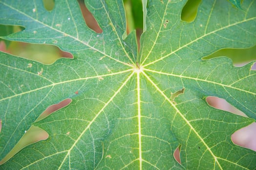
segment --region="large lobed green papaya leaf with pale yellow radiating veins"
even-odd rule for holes
[[[256,119],[256,71],[252,63],[235,68],[225,57],[201,58],[254,46],[256,3],[244,1],[237,11],[226,0],[204,0],[191,23],[180,19],[185,3],[148,2],[137,53],[135,32],[122,38],[122,0],[85,1],[102,34],[86,26],[75,0],[56,0],[51,11],[42,0],[0,0],[0,24],[25,28],[2,38],[53,44],[74,56],[43,65],[0,54],[0,159],[31,125],[49,134],[0,168],[255,169],[256,152],[231,135]],[[250,118],[209,106],[208,96]],[[68,106],[35,122],[67,98]],[[179,146],[181,164],[173,157]]]

